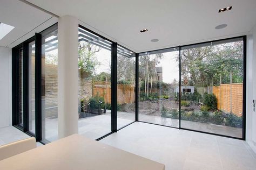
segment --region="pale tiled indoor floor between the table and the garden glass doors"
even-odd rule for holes
[[[100,140],[171,169],[256,169],[243,140],[136,122]],[[132,162],[131,162],[132,163]]]

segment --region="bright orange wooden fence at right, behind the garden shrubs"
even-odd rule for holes
[[[242,83],[213,86],[212,91],[217,97],[219,110],[242,116]]]

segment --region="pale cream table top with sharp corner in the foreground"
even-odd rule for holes
[[[1,170],[165,170],[165,165],[78,134],[0,161]]]

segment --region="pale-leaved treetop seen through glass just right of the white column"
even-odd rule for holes
[[[89,75],[95,73],[95,68],[100,62],[95,57],[95,53],[100,51],[100,47],[88,42],[79,42],[78,44],[78,69]]]

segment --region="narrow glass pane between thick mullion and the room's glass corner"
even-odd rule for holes
[[[117,129],[135,121],[135,53],[117,46]]]

